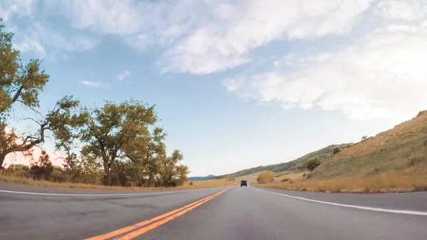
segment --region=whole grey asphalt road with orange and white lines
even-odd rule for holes
[[[105,192],[0,184],[0,239],[426,240],[427,193],[251,186]]]

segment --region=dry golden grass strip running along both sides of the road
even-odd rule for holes
[[[414,192],[427,191],[427,162],[409,167],[399,172],[386,172],[369,177],[346,177],[337,179],[305,179],[306,172],[270,172],[275,182],[258,184],[259,173],[235,179],[207,179],[186,182],[180,187],[107,187],[97,184],[57,183],[38,181],[23,177],[0,175],[0,182],[26,184],[40,187],[61,187],[101,190],[160,190],[160,189],[200,189],[239,185],[241,179],[251,181],[251,185],[275,189],[290,189],[314,192]]]

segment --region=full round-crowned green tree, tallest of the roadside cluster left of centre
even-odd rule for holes
[[[120,104],[106,102],[102,108],[84,112],[86,119],[80,132],[85,144],[82,156],[99,161],[105,172],[103,183],[111,185],[114,168],[120,166],[117,161],[126,158],[125,150],[134,153],[137,148],[149,145],[149,127],[157,122],[154,106],[136,100]]]

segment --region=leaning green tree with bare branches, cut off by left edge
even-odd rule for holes
[[[41,61],[38,59],[31,59],[26,65],[21,63],[20,53],[12,45],[14,33],[4,32],[4,25],[1,23],[0,19],[0,169],[3,169],[6,155],[28,152],[43,143],[46,130],[54,130],[54,126],[60,127],[65,120],[56,117],[63,110],[72,108],[76,102],[63,98],[44,118],[36,111],[35,108],[39,107],[38,95],[43,92],[49,76],[41,70]],[[41,116],[38,120],[26,118],[36,122],[37,132],[22,136],[14,128],[8,127],[6,120],[16,103],[21,103]]]

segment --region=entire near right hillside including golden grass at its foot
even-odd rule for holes
[[[263,187],[330,192],[427,190],[427,111],[346,147],[304,179]]]

